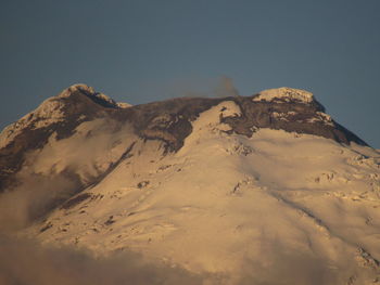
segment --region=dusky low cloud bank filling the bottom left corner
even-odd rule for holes
[[[0,237],[2,285],[202,284],[183,269],[147,262],[132,252],[94,258],[69,247],[43,247],[36,242]]]

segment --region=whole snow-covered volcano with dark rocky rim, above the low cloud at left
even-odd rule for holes
[[[204,284],[380,283],[380,153],[304,90],[131,106],[85,85],[0,134],[7,228]]]

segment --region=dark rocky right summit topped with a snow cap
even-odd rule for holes
[[[256,128],[270,128],[319,135],[339,143],[367,145],[327,115],[325,107],[309,92],[305,95],[296,89],[280,88],[235,101],[241,106],[242,116],[225,118],[224,121],[233,126],[237,133],[252,135]]]

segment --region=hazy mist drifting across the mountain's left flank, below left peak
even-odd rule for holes
[[[135,140],[129,128],[109,119],[87,121],[71,138],[52,135],[42,150],[28,153],[17,183],[0,195],[0,231],[27,226],[96,181]]]

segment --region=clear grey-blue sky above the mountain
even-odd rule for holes
[[[116,101],[312,91],[380,148],[379,0],[1,0],[0,128],[84,82]]]

